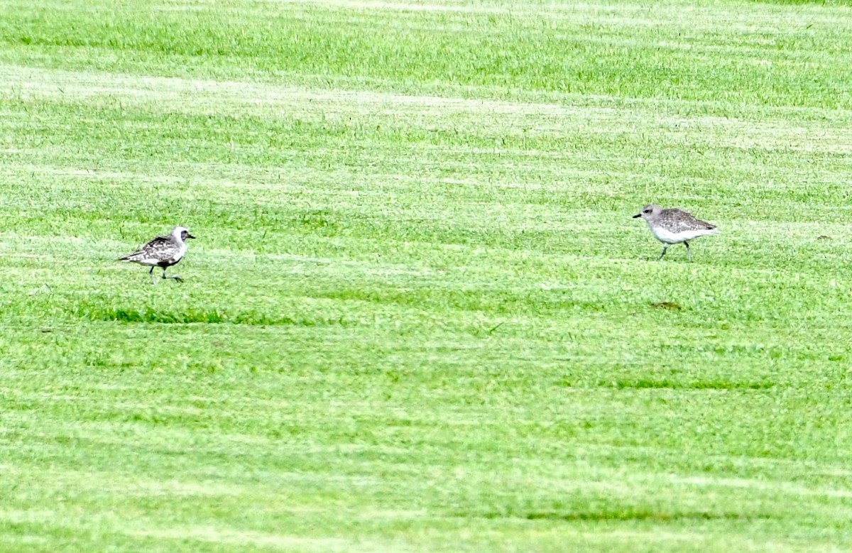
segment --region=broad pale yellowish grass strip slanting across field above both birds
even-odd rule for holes
[[[572,135],[653,135],[664,143],[694,147],[733,147],[739,150],[805,153],[852,152],[852,129],[842,120],[803,119],[797,112],[815,115],[820,110],[790,108],[786,117],[755,122],[745,118],[683,117],[678,112],[688,102],[643,101],[633,107],[572,105],[566,96],[559,103],[465,99],[435,95],[321,89],[223,82],[187,78],[153,78],[109,73],[78,73],[53,69],[0,67],[9,83],[5,95],[21,100],[73,100],[97,106],[163,110],[187,114],[267,115],[296,118],[315,124],[357,129],[380,125],[389,129],[458,130],[476,127],[481,135],[558,138]],[[585,101],[584,101],[585,102]],[[791,124],[792,120],[797,121]],[[833,116],[837,118],[837,114]],[[560,154],[528,148],[456,147],[458,152],[481,155],[556,157]],[[447,147],[452,152],[453,147]],[[81,170],[80,174],[85,174]]]

